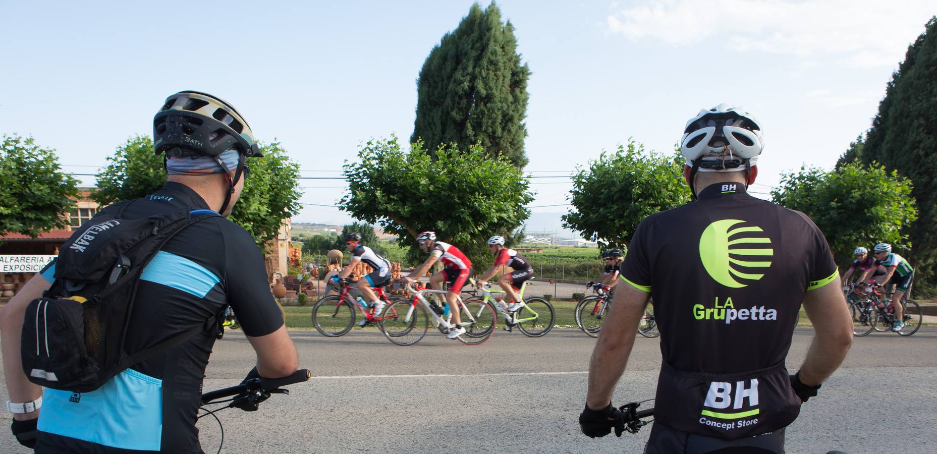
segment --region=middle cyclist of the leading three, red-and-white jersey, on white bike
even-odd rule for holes
[[[412,282],[428,271],[429,267],[433,266],[438,260],[442,261],[445,268],[429,278],[429,287],[439,288],[442,286],[443,281],[449,283],[446,302],[449,303],[449,309],[453,313],[455,328],[449,330],[446,337],[455,339],[466,333],[466,330],[462,328],[462,315],[459,313],[459,306],[455,299],[459,296],[462,286],[465,286],[468,276],[471,274],[471,260],[454,245],[448,242],[436,241],[436,232],[423,232],[417,235],[416,241],[420,243],[421,250],[429,253],[429,258],[426,258],[426,261],[415,270],[410,271],[409,276],[405,279]]]

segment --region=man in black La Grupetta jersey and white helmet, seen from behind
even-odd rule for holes
[[[621,271],[628,285],[592,354],[580,428],[592,437],[623,431],[612,390],[653,296],[663,360],[645,452],[783,452],[784,428],[852,342],[836,264],[807,215],[746,193],[763,143],[751,114],[701,110],[680,143],[698,199],[635,230]],[[801,301],[815,337],[788,375]]]

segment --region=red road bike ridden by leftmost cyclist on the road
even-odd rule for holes
[[[384,286],[372,287],[379,300],[384,301],[385,309],[383,315],[374,314],[374,308],[369,305],[362,305],[361,300],[351,296],[350,290],[356,288],[349,286],[344,281],[340,281],[337,286],[340,289],[339,295],[329,295],[322,297],[312,306],[312,325],[316,327],[323,336],[338,337],[343,336],[354,326],[355,318],[358,312],[361,312],[367,325],[379,324],[382,316],[396,316],[391,311],[391,303],[394,300],[404,297],[388,297],[384,293]],[[357,309],[357,311],[356,311]]]

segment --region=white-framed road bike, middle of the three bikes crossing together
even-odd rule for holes
[[[448,334],[455,328],[451,323],[452,315],[447,309],[435,301],[430,302],[430,295],[439,295],[445,298],[447,290],[431,290],[417,286],[406,286],[410,298],[395,299],[379,319],[380,330],[389,341],[397,345],[412,345],[420,342],[429,330],[430,320],[439,332]],[[490,304],[479,299],[463,301],[456,297],[462,315],[461,326],[465,334],[456,337],[462,344],[483,344],[491,337],[497,324],[495,309]]]

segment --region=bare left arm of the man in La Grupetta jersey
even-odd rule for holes
[[[628,357],[632,354],[634,332],[638,329],[649,299],[649,293],[633,286],[621,286],[615,292],[615,310],[610,311],[605,318],[599,342],[595,344],[589,361],[586,394],[589,408],[599,410],[611,401],[612,391],[625,372]]]

